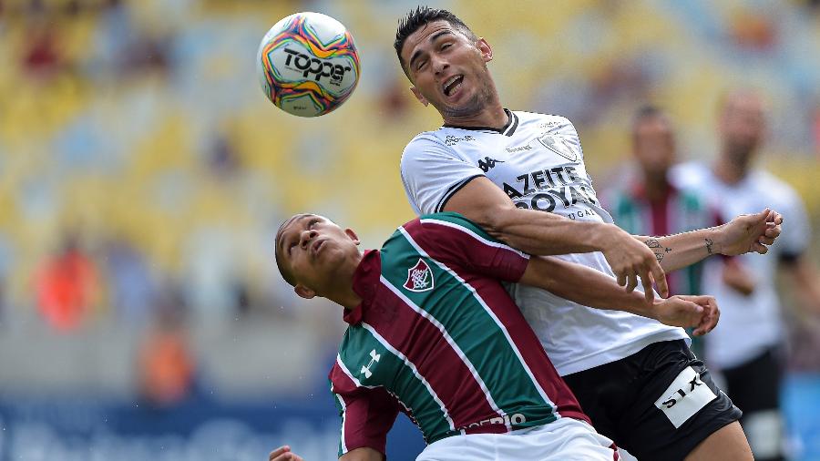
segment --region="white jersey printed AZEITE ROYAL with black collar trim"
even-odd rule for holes
[[[612,222],[600,207],[584,166],[575,128],[567,118],[508,112],[503,129],[444,126],[421,133],[402,156],[402,181],[416,214],[442,210],[470,179],[486,176],[518,208],[550,211],[572,220]],[[614,278],[600,252],[559,258]],[[628,312],[581,306],[526,285],[510,287],[559,374],[609,364],[647,345],[688,336]]]

